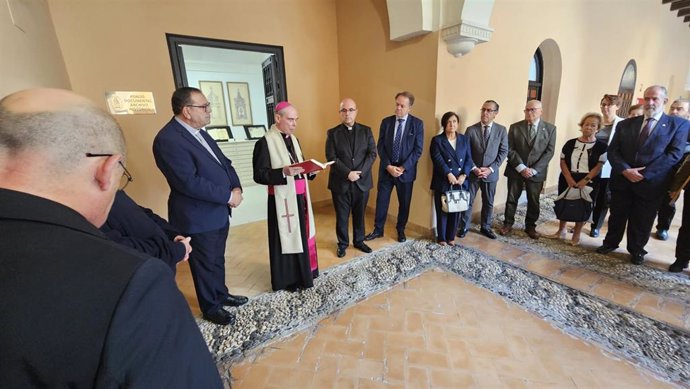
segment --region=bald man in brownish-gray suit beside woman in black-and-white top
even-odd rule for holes
[[[504,173],[508,177],[508,198],[501,235],[513,232],[515,209],[524,189],[527,192],[525,232],[530,238],[539,239],[536,230],[539,194],[544,187],[556,143],[556,126],[541,120],[541,114],[541,101],[530,100],[525,106],[525,120],[510,125],[508,163]]]

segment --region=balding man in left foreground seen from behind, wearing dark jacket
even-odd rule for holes
[[[72,92],[0,100],[0,387],[222,387],[170,269],[98,230],[125,158]]]

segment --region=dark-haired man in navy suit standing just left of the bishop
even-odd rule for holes
[[[204,318],[230,324],[223,306],[247,302],[225,286],[225,244],[232,208],[242,202],[242,187],[232,162],[203,129],[211,105],[199,89],[179,88],[172,96],[175,116],[156,135],[153,156],[170,186],[168,218],[192,238],[189,267]]]

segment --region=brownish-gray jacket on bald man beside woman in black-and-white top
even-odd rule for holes
[[[504,175],[508,178],[522,178],[515,168],[520,164],[532,168],[537,174],[530,180],[544,182],[549,168],[549,161],[553,158],[556,146],[556,126],[539,120],[534,144],[530,147],[527,120],[521,120],[510,125],[508,130],[508,163]]]

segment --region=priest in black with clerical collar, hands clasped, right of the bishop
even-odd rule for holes
[[[336,254],[342,258],[350,244],[347,233],[350,212],[354,247],[371,252],[364,243],[364,212],[369,190],[374,186],[371,166],[376,160],[376,143],[371,128],[355,122],[357,104],[354,100],[344,99],[339,112],[341,124],[328,130],[326,136],[326,159],[335,161],[328,174],[328,189],[335,208]]]

